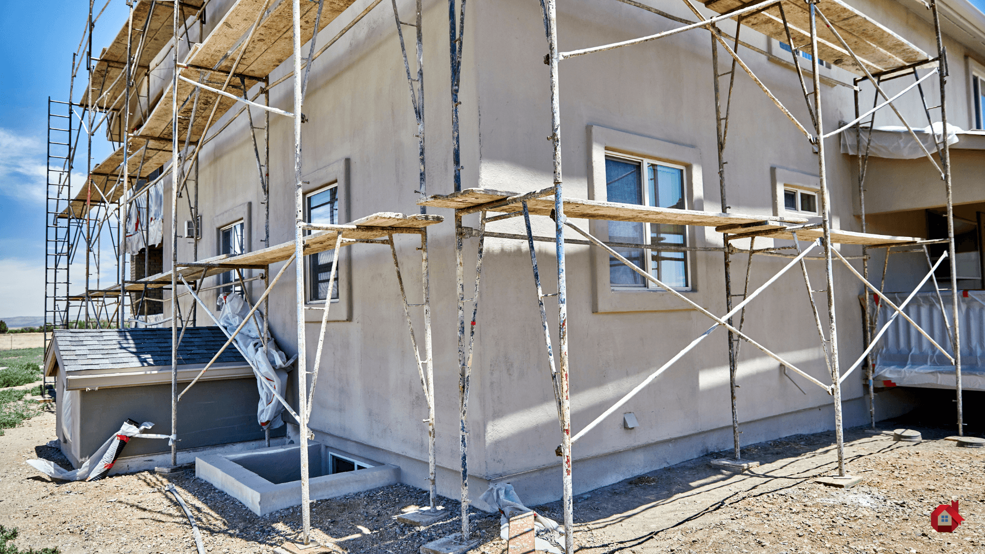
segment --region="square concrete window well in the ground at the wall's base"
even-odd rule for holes
[[[335,498],[400,482],[400,468],[308,445],[311,500]],[[195,458],[195,475],[229,494],[257,516],[300,506],[300,447],[285,445]]]

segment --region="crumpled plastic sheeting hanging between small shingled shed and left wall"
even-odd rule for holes
[[[242,297],[236,294],[224,295],[222,298],[225,301],[223,302],[223,310],[219,313],[219,324],[232,334],[246,317],[246,314],[249,313],[249,306]],[[267,339],[267,352],[264,352],[263,341],[260,340],[262,329],[263,313],[257,310],[253,312],[250,321],[236,335],[235,341],[256,375],[256,388],[260,392],[260,402],[256,410],[257,423],[265,429],[277,429],[284,425],[281,418],[284,405],[261,380],[273,385],[277,393],[283,398],[287,392],[288,372],[294,363],[294,358],[287,359],[284,352],[277,348],[277,341],[270,336],[269,332],[265,337]]]

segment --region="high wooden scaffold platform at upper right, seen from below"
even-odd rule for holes
[[[755,2],[743,0],[708,0],[704,3],[705,7],[719,14],[754,4]],[[794,43],[810,54],[811,23],[807,4],[791,0],[785,0],[782,4]],[[824,0],[819,4],[819,9],[872,73],[928,60],[930,57],[913,43],[841,0]],[[778,5],[753,15],[742,16],[742,24],[781,42],[789,42]],[[865,75],[837,36],[824,25],[821,17],[818,17],[818,52],[823,61],[856,75]]]

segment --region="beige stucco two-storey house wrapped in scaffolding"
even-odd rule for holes
[[[985,390],[966,0],[115,9],[94,44],[91,4],[49,101],[46,375],[99,392],[59,361],[79,321],[169,329],[170,441],[134,439],[160,465],[206,455],[179,414],[226,417],[183,395],[228,349],[250,449],[282,421],[296,443],[295,505],[338,492],[309,456],[398,467],[424,512],[461,498],[465,546],[492,483],[563,498],[570,529],[573,494],[708,451],[742,469],[743,445],[834,429],[841,453],[919,387],[955,391],[961,435]],[[192,367],[199,326],[226,340]]]

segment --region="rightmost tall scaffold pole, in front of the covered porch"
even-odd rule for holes
[[[941,165],[944,172],[944,188],[948,195],[948,252],[951,257],[951,316],[954,325],[953,344],[954,349],[954,394],[957,402],[957,436],[964,436],[964,402],[961,394],[961,333],[958,321],[958,301],[957,301],[957,255],[954,245],[954,205],[952,197],[951,182],[951,146],[948,144],[948,49],[944,45],[941,37],[941,16],[938,11],[937,1],[931,0],[931,9],[934,12],[934,33],[937,36],[937,55],[940,71],[938,79],[941,86]]]

